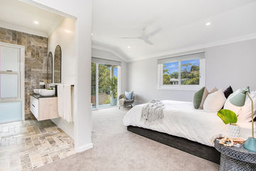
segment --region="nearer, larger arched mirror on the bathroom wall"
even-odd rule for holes
[[[61,48],[57,45],[54,52],[54,83],[61,83]]]

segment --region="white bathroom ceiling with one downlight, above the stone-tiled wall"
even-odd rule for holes
[[[0,0],[0,27],[48,37],[62,20],[62,16],[18,0]]]

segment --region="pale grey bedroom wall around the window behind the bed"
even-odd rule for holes
[[[247,40],[204,49],[206,52],[206,88],[234,90],[250,86],[256,90],[256,40]],[[157,59],[128,63],[128,89],[135,91],[136,104],[158,100],[192,101],[195,91],[157,90]]]

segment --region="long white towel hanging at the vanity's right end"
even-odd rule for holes
[[[58,112],[62,119],[67,122],[72,122],[72,99],[71,99],[71,86],[70,85],[58,85]]]

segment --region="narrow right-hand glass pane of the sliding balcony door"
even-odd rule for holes
[[[111,66],[111,106],[117,105],[118,67]]]

